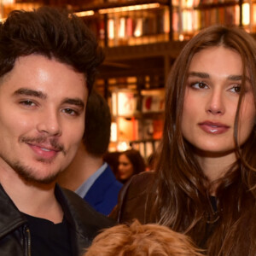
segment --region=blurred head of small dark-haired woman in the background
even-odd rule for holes
[[[119,171],[117,177],[125,183],[134,174],[145,171],[145,163],[142,155],[135,149],[128,149],[119,154]]]

